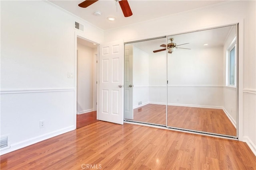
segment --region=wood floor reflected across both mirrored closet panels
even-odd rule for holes
[[[166,105],[138,107],[133,120],[166,125]],[[168,126],[236,136],[236,128],[222,109],[168,106]]]

